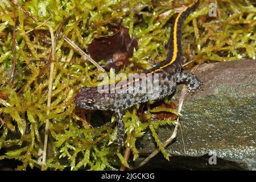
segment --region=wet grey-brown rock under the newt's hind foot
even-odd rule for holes
[[[204,92],[196,92],[193,96],[187,94],[181,110],[186,156],[201,160],[214,152],[219,169],[224,166],[218,164],[221,159],[239,164],[241,169],[255,170],[256,60],[203,64],[195,75],[204,82]],[[177,87],[173,97],[176,104],[182,86]],[[174,127],[162,127],[158,134],[164,142],[173,131]],[[141,155],[155,150],[150,131],[138,141],[138,146]],[[180,131],[167,150],[175,158],[188,160],[184,158]],[[195,163],[194,169],[200,168],[196,164],[199,163]]]

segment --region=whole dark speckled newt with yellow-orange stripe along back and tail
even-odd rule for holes
[[[177,15],[173,31],[171,32],[168,55],[165,61],[154,68],[142,72],[131,80],[127,79],[115,85],[108,85],[108,89],[84,87],[76,95],[75,103],[77,106],[89,110],[112,110],[115,112],[118,119],[117,140],[119,144],[123,144],[123,109],[147,102],[148,100],[160,100],[169,96],[175,92],[176,85],[179,82],[188,82],[189,92],[201,89],[203,83],[195,75],[181,73],[181,26],[189,13],[195,10],[198,4],[199,1],[196,1]],[[145,78],[151,82],[145,81]],[[151,85],[151,87],[148,87],[148,85]],[[145,88],[146,92],[142,92],[142,90],[145,91]]]

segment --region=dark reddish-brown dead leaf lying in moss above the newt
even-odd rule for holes
[[[129,58],[133,56],[134,48],[138,48],[138,41],[134,37],[130,38],[129,28],[110,25],[114,35],[94,39],[89,44],[88,51],[95,61],[106,61],[105,69],[114,68],[118,72],[122,65],[130,64]]]

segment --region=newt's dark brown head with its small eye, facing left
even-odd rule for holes
[[[114,96],[98,92],[97,87],[83,87],[75,97],[75,104],[88,110],[109,110],[114,105]]]

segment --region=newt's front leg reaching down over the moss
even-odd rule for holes
[[[123,112],[122,109],[115,111],[117,115],[117,142],[118,148],[123,146],[123,137],[125,135],[125,125],[123,123]]]

